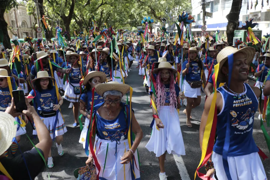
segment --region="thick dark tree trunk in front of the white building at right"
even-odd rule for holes
[[[239,26],[239,14],[242,7],[242,0],[233,0],[232,8],[226,16],[228,24],[226,26],[226,34],[228,43],[233,42],[234,31]]]

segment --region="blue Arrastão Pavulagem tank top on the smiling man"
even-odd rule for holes
[[[226,125],[230,121],[230,144],[228,156],[243,156],[258,152],[252,137],[254,114],[258,108],[258,99],[248,84],[239,96],[228,92],[224,87],[217,89],[222,94],[223,108],[217,115],[217,140],[213,151],[222,155],[226,136]]]

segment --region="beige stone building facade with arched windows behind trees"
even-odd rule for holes
[[[27,14],[26,7],[19,5],[17,8],[12,8],[10,11],[4,14],[4,18],[8,23],[8,35],[12,38],[13,35],[18,38],[25,38],[31,36],[35,38],[35,30],[32,29],[35,19],[32,15]]]

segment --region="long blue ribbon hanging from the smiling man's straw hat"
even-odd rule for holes
[[[231,78],[232,78],[233,54],[228,56],[228,64],[229,64],[229,74],[228,74],[228,88],[229,88]],[[230,146],[230,133],[231,133],[230,127],[231,127],[231,124],[230,124],[230,118],[228,115],[227,123],[226,123],[226,136],[225,136],[223,152],[222,152],[223,167],[224,167],[228,180],[232,180],[232,177],[229,171],[229,163],[228,163],[228,151],[229,151],[229,146]]]

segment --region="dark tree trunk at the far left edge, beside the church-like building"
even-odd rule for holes
[[[11,49],[11,44],[10,44],[10,38],[8,35],[8,23],[5,21],[4,19],[4,13],[5,13],[5,9],[4,8],[0,8],[0,32],[3,32],[3,45],[5,47],[5,49]]]

